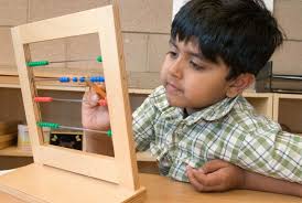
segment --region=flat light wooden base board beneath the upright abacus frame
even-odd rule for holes
[[[143,188],[133,192],[115,183],[36,163],[1,175],[0,190],[30,203],[139,203],[145,195]]]

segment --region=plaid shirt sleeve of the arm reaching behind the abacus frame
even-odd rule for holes
[[[154,139],[153,122],[157,116],[153,96],[150,95],[140,107],[132,114],[133,133],[136,148],[145,151],[150,148],[151,140]]]

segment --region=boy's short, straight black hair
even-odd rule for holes
[[[226,79],[257,75],[282,44],[277,20],[261,0],[191,0],[172,22],[171,39],[197,40],[205,58],[229,67]]]

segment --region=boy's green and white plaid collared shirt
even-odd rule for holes
[[[137,149],[150,149],[160,172],[187,182],[186,165],[222,159],[268,177],[302,183],[302,137],[255,113],[242,97],[225,98],[187,117],[162,86],[133,113]]]

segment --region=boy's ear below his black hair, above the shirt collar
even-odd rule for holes
[[[255,76],[250,73],[240,74],[238,77],[230,82],[230,85],[226,92],[227,97],[236,97],[241,94],[255,82]]]

